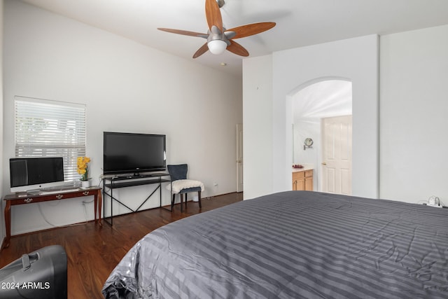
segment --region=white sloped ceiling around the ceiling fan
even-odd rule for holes
[[[204,0],[22,0],[193,61],[204,39],[158,27],[207,33]],[[253,22],[276,27],[238,39],[249,57],[279,50],[448,24],[448,0],[225,0],[226,28]],[[241,76],[242,57],[209,52],[195,62]],[[221,67],[221,62],[227,63]]]

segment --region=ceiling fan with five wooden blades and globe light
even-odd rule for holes
[[[223,27],[223,18],[221,17],[221,11],[219,9],[224,5],[224,3],[224,0],[205,0],[205,16],[207,18],[207,24],[209,25],[207,34],[179,29],[158,29],[165,32],[197,36],[207,39],[207,43],[196,51],[193,58],[200,57],[200,55],[206,53],[207,50],[210,50],[211,53],[216,55],[224,53],[225,50],[229,50],[230,52],[240,56],[248,56],[248,51],[239,43],[234,41],[234,39],[241,39],[241,37],[265,32],[274,27],[275,22],[260,22],[235,27],[232,29],[225,29]]]

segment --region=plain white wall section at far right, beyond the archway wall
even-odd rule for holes
[[[448,204],[448,25],[380,41],[381,198]]]

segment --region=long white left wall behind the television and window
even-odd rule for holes
[[[145,132],[167,134],[167,162],[187,162],[190,178],[205,184],[204,197],[235,192],[241,79],[20,1],[5,1],[4,10],[3,165],[14,155],[13,97],[20,95],[87,105],[94,184],[102,174],[102,132]],[[3,193],[8,180],[3,167]],[[137,208],[153,187],[114,195]],[[165,189],[163,197],[168,204]],[[158,205],[152,198],[145,207]],[[48,228],[42,214],[57,225],[92,219],[92,203],[82,200],[13,207],[13,235]]]

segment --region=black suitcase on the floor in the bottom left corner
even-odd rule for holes
[[[67,298],[67,256],[52,245],[0,269],[0,298]]]

